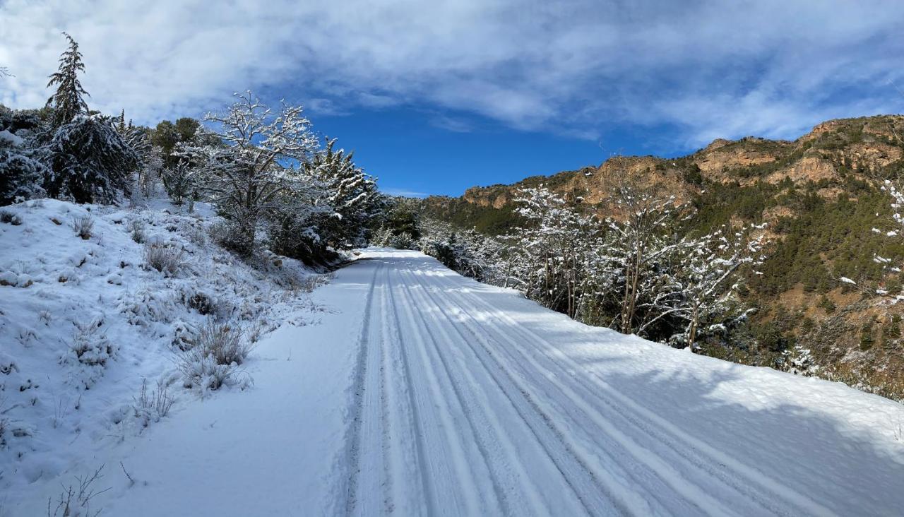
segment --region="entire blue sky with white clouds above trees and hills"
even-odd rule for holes
[[[0,19],[7,106],[42,105],[65,30],[92,108],[152,124],[237,90],[302,102],[396,193],[904,105],[898,0],[0,0]]]

